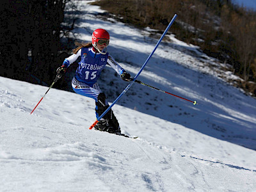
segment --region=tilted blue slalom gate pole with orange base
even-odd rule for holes
[[[151,52],[151,54],[148,56],[147,60],[145,61],[145,63],[143,64],[143,66],[141,67],[140,71],[138,72],[138,74],[134,77],[134,79],[132,80],[132,82],[130,84],[128,84],[128,86],[124,89],[124,91],[116,98],[116,100],[114,100],[114,102],[111,104],[111,106],[108,107],[108,109],[106,109],[106,111],[104,111],[104,113],[102,113],[102,115],[99,116],[99,118],[97,118],[97,120],[90,126],[89,129],[92,129],[98,122],[99,120],[106,115],[106,113],[108,113],[108,111],[116,104],[116,102],[127,92],[127,90],[129,90],[129,88],[131,88],[132,84],[135,82],[135,80],[137,79],[138,76],[140,76],[143,68],[147,65],[148,60],[150,60],[150,58],[152,57],[152,55],[154,54],[154,52],[156,51],[158,45],[161,43],[161,41],[163,40],[164,35],[166,35],[167,31],[171,28],[174,20],[176,19],[177,14],[175,14],[172,18],[172,20],[170,21],[170,23],[168,24],[167,28],[164,30],[163,35],[161,36],[161,38],[159,38],[154,50]]]

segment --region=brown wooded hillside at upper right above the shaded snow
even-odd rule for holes
[[[139,28],[163,30],[177,13],[172,33],[198,45],[209,56],[230,63],[234,74],[244,79],[237,85],[256,95],[255,11],[230,0],[101,0],[94,4]]]

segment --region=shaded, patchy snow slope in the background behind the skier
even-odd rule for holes
[[[108,51],[135,76],[161,34],[156,33],[156,38],[151,38],[149,29],[141,31],[114,19],[102,20],[99,14],[104,11],[86,2],[90,1],[78,1],[83,12],[74,35],[86,42],[91,40],[94,29],[108,30],[111,36]],[[208,57],[198,47],[180,42],[173,35],[166,35],[138,80],[196,100],[199,105],[195,107],[190,102],[140,84],[134,84],[118,104],[220,140],[256,149],[256,100],[230,86],[239,77],[232,75],[228,68],[228,64]],[[127,84],[114,75],[115,72],[107,68],[100,82],[100,88],[109,101],[115,100]]]

